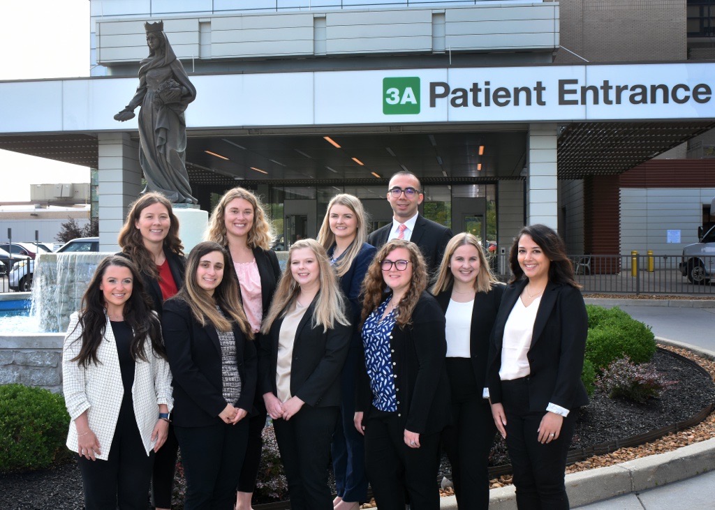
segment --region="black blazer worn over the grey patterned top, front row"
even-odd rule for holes
[[[164,302],[162,332],[174,376],[174,424],[193,427],[223,423],[218,416],[227,402],[222,393],[221,345],[214,326],[202,326],[187,303],[172,298]],[[234,327],[233,334],[241,395],[230,404],[250,411],[256,390],[256,348],[239,326]]]

